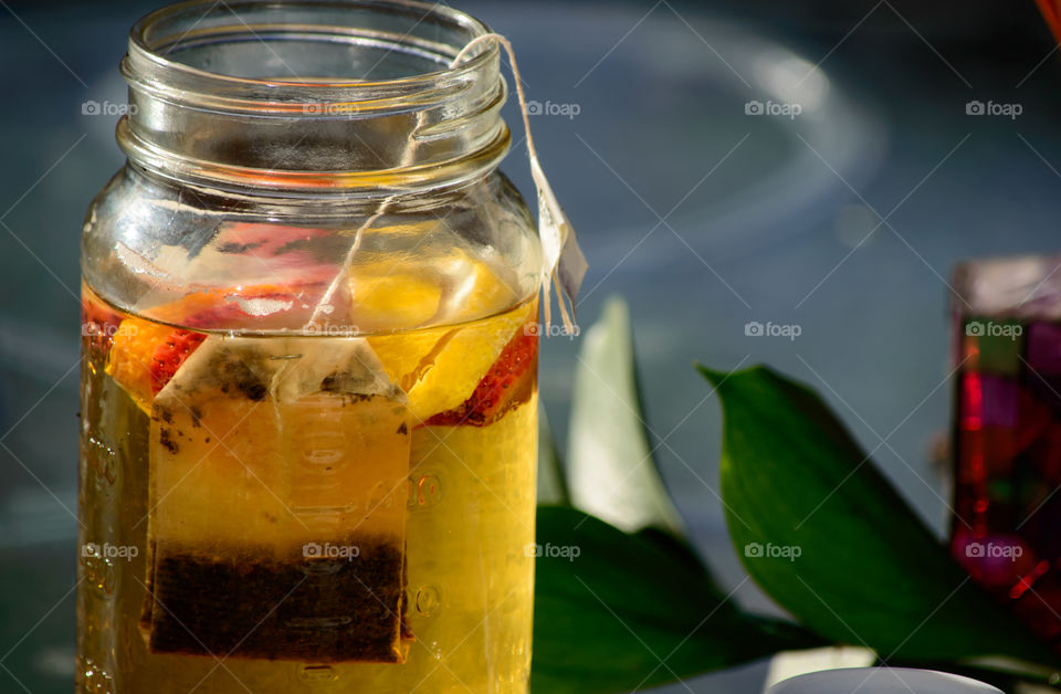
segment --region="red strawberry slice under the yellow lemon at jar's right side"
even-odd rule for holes
[[[538,336],[519,326],[501,356],[459,407],[428,419],[429,427],[486,427],[530,399],[538,370]]]

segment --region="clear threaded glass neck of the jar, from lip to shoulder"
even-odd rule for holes
[[[275,194],[388,194],[504,157],[505,83],[489,29],[411,0],[216,3],[137,22],[122,72],[129,159],[181,181]]]

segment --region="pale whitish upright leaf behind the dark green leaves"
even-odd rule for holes
[[[623,530],[681,535],[641,412],[630,312],[612,297],[579,349],[567,449],[571,502]]]

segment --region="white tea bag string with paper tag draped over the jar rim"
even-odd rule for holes
[[[582,255],[581,250],[578,248],[578,242],[575,239],[575,231],[571,228],[567,215],[564,213],[563,208],[560,208],[560,204],[556,199],[556,194],[553,192],[553,188],[549,186],[548,179],[546,179],[545,172],[542,170],[542,165],[538,161],[538,153],[534,146],[534,136],[530,133],[530,118],[528,116],[529,111],[527,108],[527,96],[523,90],[523,80],[519,76],[519,66],[516,62],[516,52],[512,48],[512,43],[508,41],[508,39],[502,34],[487,33],[469,41],[453,57],[449,66],[450,70],[459,66],[472,51],[490,41],[496,42],[508,54],[512,75],[516,82],[516,96],[519,101],[519,112],[523,117],[523,127],[527,135],[527,155],[530,159],[530,175],[534,178],[535,187],[537,188],[538,193],[538,234],[542,240],[543,255],[545,256],[542,272],[542,293],[544,295],[543,298],[545,299],[544,309],[545,323],[547,326],[546,329],[551,327],[550,284],[555,283],[558,290],[557,304],[560,307],[564,326],[569,333],[577,335],[578,326],[575,323],[575,298],[578,295],[582,276],[586,274],[586,259]],[[406,148],[402,151],[401,166],[409,166],[411,164],[411,157],[416,147],[416,135],[420,128],[424,126],[426,115],[426,111],[421,111],[417,114],[417,125],[412,129],[412,133],[409,136],[409,141],[406,144]],[[321,297],[316,308],[313,311],[309,322],[303,328],[304,330],[308,332],[319,327],[324,315],[330,314],[334,311],[334,306],[332,306],[332,299],[342,285],[343,278],[346,277],[350,271],[350,267],[354,265],[354,256],[357,254],[357,251],[360,248],[361,238],[365,230],[371,228],[371,225],[375,224],[380,217],[386,214],[390,209],[390,206],[395,200],[398,199],[400,194],[401,193],[392,193],[384,199],[376,212],[374,212],[372,215],[365,220],[365,222],[358,228],[354,238],[354,242],[350,244],[350,250],[347,252],[346,257],[344,259],[342,269],[328,285],[327,291]],[[568,311],[565,298],[570,303],[570,311]]]

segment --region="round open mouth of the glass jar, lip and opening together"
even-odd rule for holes
[[[496,62],[498,49],[489,43],[449,65],[487,33],[468,13],[417,0],[189,0],[137,21],[122,67],[134,88],[176,96],[166,87],[179,87],[189,105],[306,116],[378,112]]]

